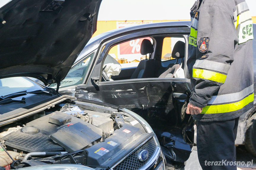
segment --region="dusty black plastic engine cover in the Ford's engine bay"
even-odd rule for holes
[[[92,124],[55,111],[27,123],[2,139],[5,145],[26,152],[75,151],[100,141],[101,134],[102,130]]]

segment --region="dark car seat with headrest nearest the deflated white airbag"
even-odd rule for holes
[[[149,57],[151,58],[152,53],[154,52],[154,46],[152,45],[151,41],[148,39],[144,39],[141,42],[141,49],[140,54],[146,55],[145,60],[141,60],[139,62],[138,67],[133,72],[131,79],[136,78],[150,78],[154,76],[155,72],[155,60],[154,59],[147,59],[147,54],[150,54]]]

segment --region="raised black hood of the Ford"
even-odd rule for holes
[[[0,78],[66,76],[96,31],[101,0],[12,0],[0,8]],[[6,23],[5,23],[6,22]]]

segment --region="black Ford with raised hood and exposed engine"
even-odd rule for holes
[[[58,93],[96,31],[100,3],[12,0],[0,8],[0,169],[165,169],[139,115]]]

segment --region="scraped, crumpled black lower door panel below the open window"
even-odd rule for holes
[[[117,105],[139,114],[153,128],[166,157],[184,162],[193,146],[193,119],[185,114],[190,95],[186,84],[187,79],[175,78],[101,82],[98,88],[78,87],[76,97]]]

